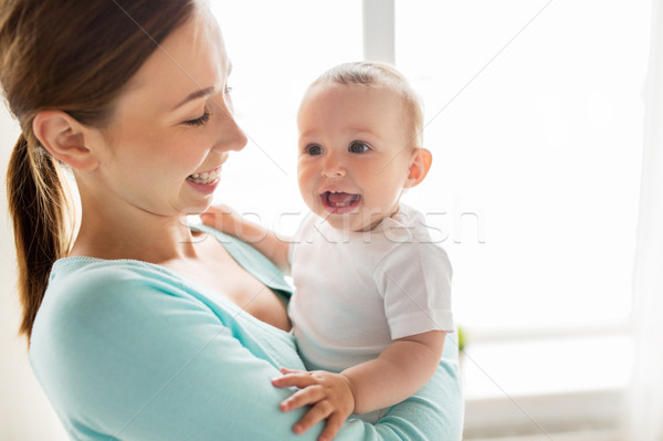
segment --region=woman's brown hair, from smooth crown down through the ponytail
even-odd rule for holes
[[[123,87],[158,44],[193,13],[196,0],[0,0],[0,83],[22,134],[9,161],[28,336],[55,260],[72,241],[60,164],[32,132],[35,115],[66,112],[103,128]]]

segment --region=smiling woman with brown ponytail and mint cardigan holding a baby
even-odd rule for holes
[[[22,136],[8,193],[33,370],[76,440],[309,440],[270,379],[303,369],[288,287],[261,254],[191,229],[230,150],[230,63],[194,0],[3,0],[0,82]],[[60,165],[82,219],[70,243]],[[48,290],[46,290],[48,285]],[[451,440],[453,344],[433,380],[339,440]],[[434,397],[448,397],[440,405]]]

